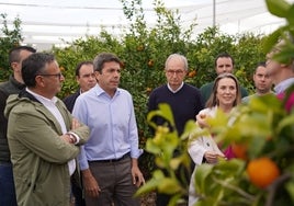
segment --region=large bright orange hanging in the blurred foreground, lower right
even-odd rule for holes
[[[261,188],[267,187],[280,176],[280,170],[276,163],[267,157],[251,160],[246,171],[250,182]]]

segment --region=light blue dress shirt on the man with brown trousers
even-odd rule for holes
[[[88,161],[142,154],[133,99],[126,90],[118,88],[111,98],[97,84],[77,99],[72,114],[90,127],[90,138],[79,154],[81,170],[89,168]]]

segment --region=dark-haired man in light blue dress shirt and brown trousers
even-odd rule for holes
[[[138,133],[132,95],[118,88],[121,61],[109,53],[95,57],[98,84],[76,101],[72,114],[91,129],[79,163],[87,206],[139,205],[133,195],[145,182],[138,168]]]

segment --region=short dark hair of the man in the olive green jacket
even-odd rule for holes
[[[44,73],[46,64],[55,61],[55,57],[47,53],[34,53],[22,62],[22,79],[26,87],[34,88],[36,85],[35,77]]]

